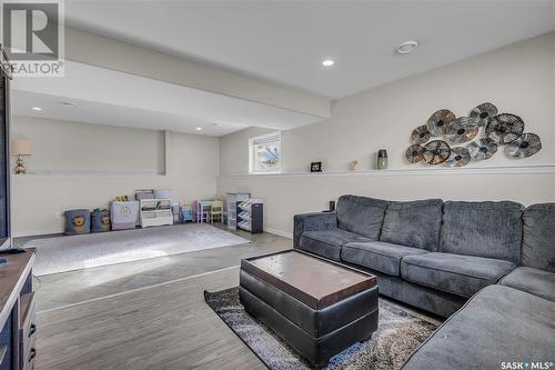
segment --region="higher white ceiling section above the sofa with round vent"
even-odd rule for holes
[[[555,30],[555,1],[87,1],[70,26],[342,98]],[[395,47],[420,47],[400,56]],[[335,60],[333,68],[321,66]]]

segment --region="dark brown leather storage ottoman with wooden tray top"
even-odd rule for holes
[[[299,250],[241,261],[240,299],[313,367],[377,329],[377,279]]]

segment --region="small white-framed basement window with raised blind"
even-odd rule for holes
[[[249,140],[249,172],[281,172],[281,132],[272,132]]]

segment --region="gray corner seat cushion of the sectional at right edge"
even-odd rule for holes
[[[555,273],[549,271],[519,267],[501,279],[500,284],[555,301]]]

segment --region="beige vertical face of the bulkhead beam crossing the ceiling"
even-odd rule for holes
[[[199,90],[330,117],[330,100],[65,26],[65,59]]]

